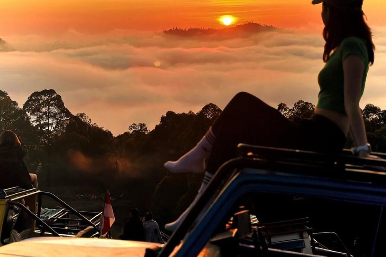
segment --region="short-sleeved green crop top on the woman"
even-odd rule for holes
[[[362,80],[362,97],[368,72],[369,60],[366,41],[357,37],[345,38],[338,49],[332,53],[318,76],[320,92],[317,108],[346,114],[344,107],[344,74],[343,61],[348,55],[358,56],[364,63]]]

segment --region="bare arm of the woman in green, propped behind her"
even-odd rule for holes
[[[344,105],[349,118],[351,133],[356,146],[367,144],[366,129],[362,111],[359,108],[360,92],[364,73],[363,61],[355,55],[349,55],[343,61],[344,72]],[[359,156],[367,157],[366,152]]]

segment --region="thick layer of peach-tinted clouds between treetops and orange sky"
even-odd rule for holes
[[[374,32],[376,61],[362,105],[386,108],[386,29]],[[7,41],[0,52],[0,89],[22,105],[32,92],[53,88],[72,113],[85,112],[115,135],[134,122],[152,128],[168,110],[198,111],[209,102],[223,108],[239,91],[272,106],[298,99],[316,103],[323,67],[321,36],[301,32],[226,40],[132,33],[84,37],[76,44],[37,36]]]

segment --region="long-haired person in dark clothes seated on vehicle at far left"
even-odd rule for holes
[[[0,188],[38,187],[35,174],[29,174],[23,158],[27,154],[27,147],[12,131],[5,130],[0,134]]]

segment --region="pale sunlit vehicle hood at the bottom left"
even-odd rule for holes
[[[0,247],[0,257],[143,257],[162,244],[96,238],[32,238]]]

